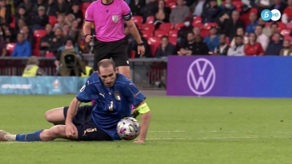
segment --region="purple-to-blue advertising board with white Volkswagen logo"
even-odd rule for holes
[[[292,57],[169,56],[166,93],[292,97]]]

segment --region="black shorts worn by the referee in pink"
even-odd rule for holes
[[[116,67],[129,66],[129,59],[125,45],[125,39],[112,42],[102,42],[96,40],[94,43],[94,63],[93,69],[97,71],[97,63],[103,59],[109,59],[116,63]]]

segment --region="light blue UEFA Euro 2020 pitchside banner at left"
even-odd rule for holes
[[[87,78],[61,76],[0,76],[0,94],[76,94]]]

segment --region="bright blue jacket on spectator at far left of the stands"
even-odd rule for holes
[[[13,53],[13,57],[29,57],[32,55],[32,46],[25,40],[22,43],[16,43]]]

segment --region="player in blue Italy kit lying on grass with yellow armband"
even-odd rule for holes
[[[140,135],[135,143],[143,143],[150,123],[150,109],[146,97],[126,76],[117,73],[112,60],[98,62],[98,72],[93,73],[69,107],[53,109],[48,121],[55,125],[48,130],[12,135],[0,130],[1,141],[52,141],[64,138],[76,141],[121,140],[116,127],[121,118],[131,116],[131,104],[142,114]],[[96,103],[81,106],[81,102]],[[66,118],[66,119],[65,119]]]

